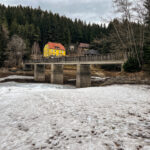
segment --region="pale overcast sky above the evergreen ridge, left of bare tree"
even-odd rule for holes
[[[23,5],[59,13],[72,19],[102,23],[112,15],[112,0],[0,0],[5,5]]]

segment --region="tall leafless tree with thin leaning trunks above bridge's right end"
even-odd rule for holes
[[[142,65],[144,45],[144,7],[140,0],[113,0],[114,8],[120,14],[120,22],[125,22],[126,27],[121,30],[127,40],[122,39],[120,31],[114,28],[122,45],[136,57],[139,66]],[[138,24],[135,29],[135,22]]]

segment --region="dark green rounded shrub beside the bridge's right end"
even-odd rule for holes
[[[141,67],[139,66],[136,58],[130,57],[127,62],[123,65],[124,71],[126,72],[139,72]]]

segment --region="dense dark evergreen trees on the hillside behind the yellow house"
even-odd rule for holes
[[[31,7],[5,7],[0,5],[1,22],[5,23],[9,35],[22,37],[31,47],[39,42],[41,49],[48,41],[64,45],[76,42],[91,43],[106,33],[106,27],[86,24],[81,20],[72,21],[52,12],[32,9]]]

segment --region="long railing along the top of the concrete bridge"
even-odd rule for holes
[[[54,58],[41,58],[26,60],[25,63],[65,63],[65,62],[90,62],[90,61],[115,61],[126,60],[127,53],[109,53],[105,55],[94,56],[76,56],[76,57],[54,57]]]

